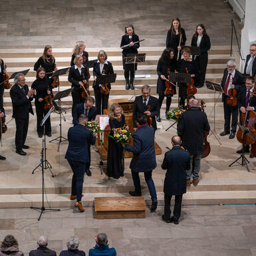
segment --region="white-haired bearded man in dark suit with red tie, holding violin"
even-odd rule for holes
[[[227,68],[225,68],[223,73],[223,78],[221,81],[221,87],[223,88],[224,93],[222,94],[223,108],[224,108],[224,131],[221,132],[220,136],[229,135],[229,139],[235,138],[235,132],[237,132],[237,118],[238,118],[238,107],[237,105],[232,106],[227,104],[227,99],[229,98],[229,90],[237,90],[239,93],[240,86],[243,86],[244,79],[243,74],[235,70],[236,64],[235,61],[228,61]],[[231,91],[230,91],[231,92]],[[238,96],[238,95],[237,95]],[[231,119],[231,133],[230,133],[230,118]]]

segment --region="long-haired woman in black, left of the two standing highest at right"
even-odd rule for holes
[[[178,52],[181,51],[182,47],[185,46],[186,40],[186,33],[180,25],[180,19],[178,17],[175,17],[172,20],[171,28],[168,30],[166,37],[166,48],[174,49],[174,59],[177,60]],[[179,54],[178,60],[180,59],[181,54]]]

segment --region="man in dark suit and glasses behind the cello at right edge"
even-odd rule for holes
[[[255,111],[256,110],[256,96],[251,97],[253,93],[253,88],[255,86],[255,80],[252,76],[249,76],[245,80],[245,86],[241,86],[239,90],[239,96],[237,98],[237,106],[240,112],[240,120],[241,123],[241,113],[246,113],[247,111]],[[237,150],[237,154],[241,154],[243,148]],[[249,152],[249,145],[245,146],[244,152]],[[250,158],[254,158],[256,154],[256,142],[251,144],[251,154]]]

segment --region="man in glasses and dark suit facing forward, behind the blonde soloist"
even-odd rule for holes
[[[156,116],[159,115],[158,98],[150,95],[150,86],[148,84],[142,86],[142,96],[137,96],[134,101],[134,111],[132,116],[134,120],[134,130],[138,128],[136,124],[138,113],[151,117],[152,127],[156,131]]]

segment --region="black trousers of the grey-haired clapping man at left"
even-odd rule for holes
[[[22,150],[22,146],[25,144],[27,138],[27,130],[29,128],[29,114],[27,115],[27,118],[15,118],[15,123],[15,146],[17,150]]]

